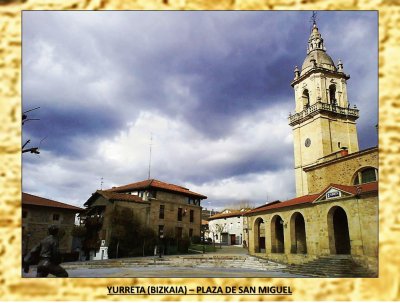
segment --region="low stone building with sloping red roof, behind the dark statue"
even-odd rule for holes
[[[60,251],[70,253],[75,217],[83,211],[80,207],[22,193],[22,254],[48,236],[50,225],[60,227]]]

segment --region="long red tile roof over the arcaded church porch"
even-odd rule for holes
[[[357,189],[361,190],[359,192],[360,194],[367,193],[367,192],[378,191],[378,182],[371,182],[371,183],[365,183],[365,184],[360,184],[360,185],[341,185],[341,184],[332,183],[332,184],[328,185],[320,193],[313,194],[313,195],[301,196],[301,197],[297,197],[297,198],[290,199],[290,200],[287,200],[287,201],[283,201],[283,202],[280,202],[280,203],[274,202],[274,203],[267,204],[267,205],[264,205],[264,206],[259,206],[259,207],[255,208],[255,209],[250,210],[249,212],[247,212],[246,215],[247,214],[254,214],[254,213],[258,213],[258,212],[263,212],[263,211],[267,211],[267,210],[271,210],[271,209],[289,207],[289,206],[293,206],[293,205],[312,203],[316,199],[321,197],[323,194],[325,194],[325,192],[331,187],[334,187],[334,188],[340,189],[342,191],[348,192],[349,194],[352,194],[352,195],[356,195],[357,194]]]

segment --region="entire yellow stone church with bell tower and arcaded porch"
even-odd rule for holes
[[[377,273],[378,148],[358,148],[349,78],[314,23],[291,83],[297,197],[247,213],[251,254],[288,263],[344,255]]]

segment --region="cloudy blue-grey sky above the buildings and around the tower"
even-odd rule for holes
[[[23,191],[78,206],[148,178],[207,208],[295,196],[288,114],[311,12],[23,12]],[[377,13],[319,12],[377,144]],[[44,140],[43,140],[44,139]]]

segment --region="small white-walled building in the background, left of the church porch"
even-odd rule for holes
[[[243,244],[243,214],[247,209],[225,209],[208,219],[209,235],[215,243],[224,245]]]

